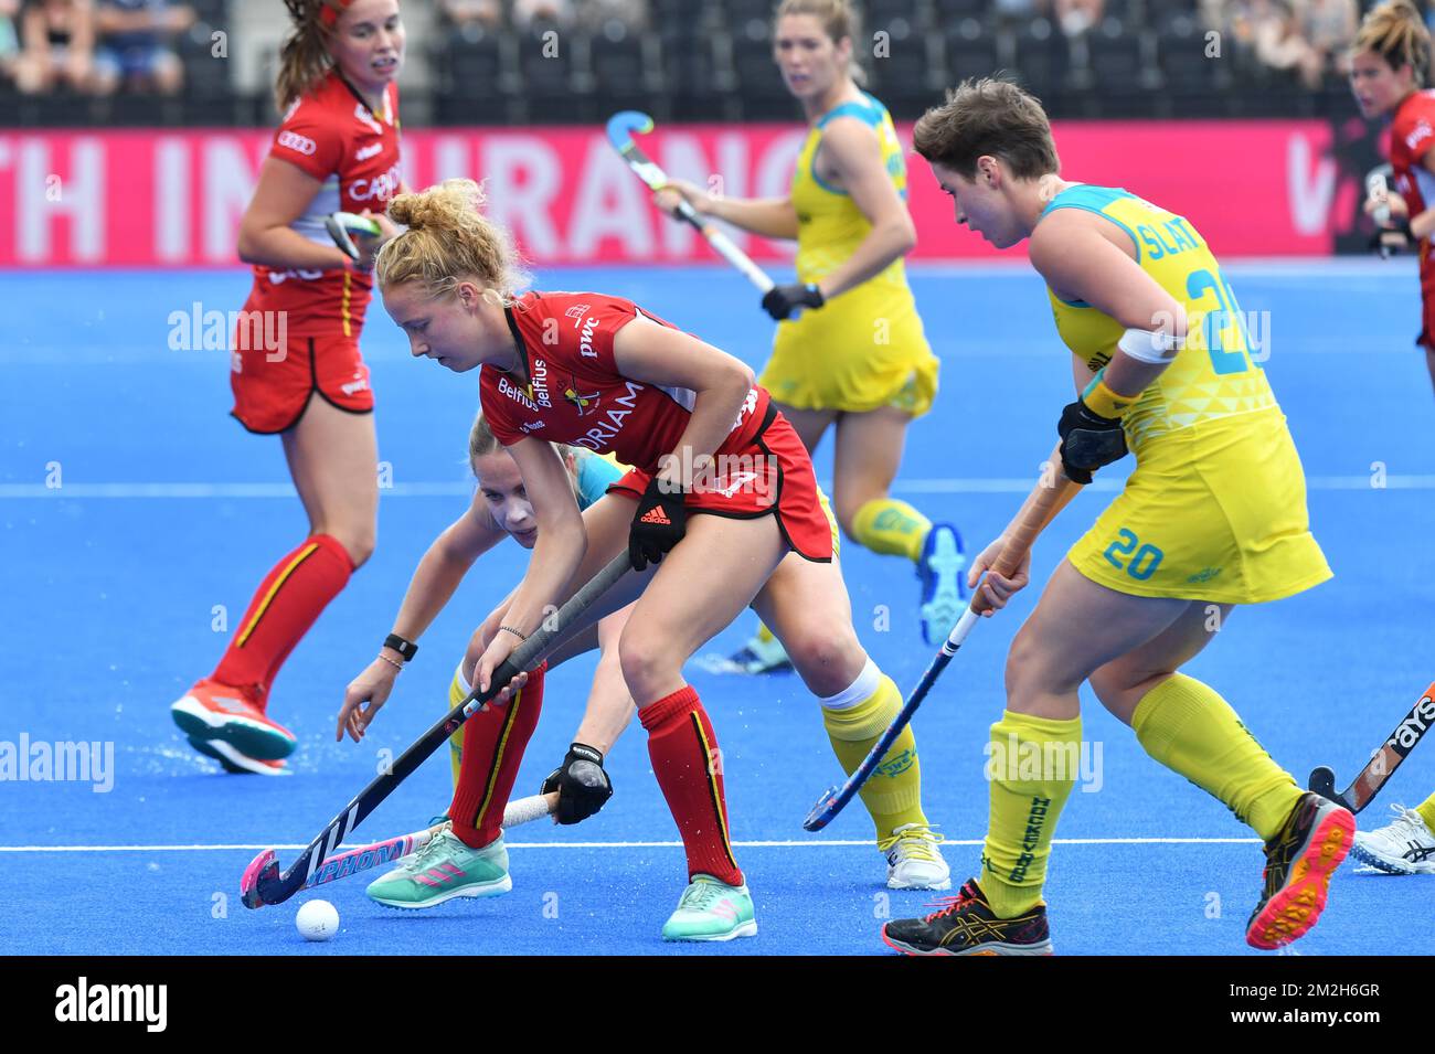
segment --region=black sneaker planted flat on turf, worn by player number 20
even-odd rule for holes
[[[883,941],[904,955],[1050,955],[1046,905],[1015,919],[999,919],[976,879],[956,896],[937,901],[940,911],[921,919],[893,919]]]

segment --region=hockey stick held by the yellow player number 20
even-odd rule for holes
[[[1016,569],[1022,566],[1022,559],[1032,548],[1032,543],[1036,542],[1036,536],[1046,529],[1046,525],[1052,522],[1058,512],[1066,508],[1066,503],[1078,490],[1081,490],[1081,483],[1073,483],[1062,473],[1058,473],[1053,485],[1048,485],[1046,480],[1038,483],[1036,490],[1032,492],[1026,512],[1012,529],[1006,545],[1002,546],[996,562],[992,564],[992,569],[1003,578],[1010,578],[1016,574]],[[847,783],[841,787],[828,787],[824,792],[822,797],[812,806],[812,812],[802,820],[804,830],[822,830],[857,796],[857,792],[867,783],[867,777],[872,774],[878,763],[887,756],[887,751],[891,750],[893,743],[901,736],[903,728],[911,721],[913,714],[917,713],[917,707],[921,706],[927,693],[931,691],[931,685],[941,677],[941,671],[947,668],[947,664],[957,654],[961,642],[971,632],[971,627],[977,624],[987,607],[979,587],[971,597],[971,604],[961,612],[961,618],[951,628],[951,634],[943,641],[941,650],[937,651],[936,657],[927,665],[927,673],[917,681],[917,687],[913,688],[901,713],[897,714],[887,731],[883,733],[883,737],[877,740],[877,746],[862,759],[857,771],[847,777]]]

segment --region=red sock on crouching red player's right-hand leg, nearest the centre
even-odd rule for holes
[[[728,839],[718,734],[692,687],[679,688],[637,711],[647,728],[647,756],[677,820],[687,850],[687,878],[712,875],[742,885],[742,870]]]

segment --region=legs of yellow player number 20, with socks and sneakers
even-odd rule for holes
[[[1330,873],[1349,852],[1355,820],[1303,793],[1220,694],[1175,673],[1227,614],[1224,605],[1121,594],[1063,561],[1007,657],[1007,710],[992,727],[992,815],[982,883],[970,882],[957,903],[927,919],[891,924],[888,942],[917,954],[1049,948],[1042,883],[1056,820],[1079,767],[1062,763],[1033,779],[1019,771],[1016,760],[1079,757],[1076,690],[1088,678],[1148,754],[1217,797],[1266,840],[1266,883],[1247,941],[1274,948],[1304,935],[1325,908]],[[999,922],[989,936],[973,938],[964,915]],[[953,936],[954,931],[960,934]]]

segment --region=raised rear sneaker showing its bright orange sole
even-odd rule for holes
[[[1246,926],[1246,944],[1273,951],[1304,936],[1326,906],[1330,876],[1350,852],[1355,816],[1306,792],[1266,843],[1266,889]]]

